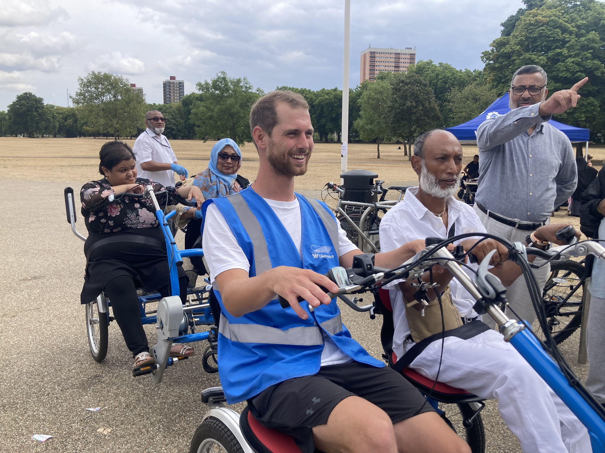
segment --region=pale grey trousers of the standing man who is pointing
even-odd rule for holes
[[[497,220],[488,217],[488,215],[483,213],[477,205],[475,205],[475,211],[488,233],[501,236],[504,239],[508,239],[509,242],[525,243],[525,238],[531,233],[531,231],[517,230],[517,228],[505,225],[504,223],[500,223]],[[546,223],[550,223],[550,219],[546,220]],[[543,262],[544,261],[540,259],[534,261],[535,264]],[[548,276],[551,273],[551,266],[546,265],[540,269],[532,269],[532,272],[534,272],[535,280],[538,282],[538,289],[540,289],[541,295],[546,281],[548,280]],[[511,286],[506,288],[506,299],[522,320],[528,321],[530,326],[534,324],[536,318],[534,304],[532,304],[531,298],[529,297],[527,283],[525,283],[525,277],[523,277],[523,275],[519,275]],[[509,318],[517,319],[517,316],[513,315],[508,309],[506,310],[506,315]],[[495,327],[495,321],[492,320],[490,316],[483,316],[483,322],[492,329]]]

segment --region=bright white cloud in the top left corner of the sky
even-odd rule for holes
[[[48,0],[4,0],[0,8],[0,27],[45,25],[67,17],[64,8],[53,8]]]

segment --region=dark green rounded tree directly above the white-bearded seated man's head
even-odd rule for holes
[[[421,133],[442,123],[433,90],[418,74],[393,74],[390,77],[392,97],[390,117],[393,135],[407,139],[408,158],[411,142]]]

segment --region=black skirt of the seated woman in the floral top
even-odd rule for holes
[[[110,280],[122,275],[132,277],[137,288],[142,287],[146,292],[157,291],[170,284],[166,243],[161,228],[135,228],[108,234],[89,233],[84,252],[100,239],[132,234],[152,237],[159,243],[148,245],[138,242],[115,242],[94,249],[88,257],[80,303],[93,301]],[[177,266],[177,271],[179,278],[186,277],[182,266]]]

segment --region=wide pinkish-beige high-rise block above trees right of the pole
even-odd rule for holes
[[[376,80],[379,72],[408,72],[408,66],[416,63],[416,48],[381,49],[368,47],[361,53],[359,83]]]

